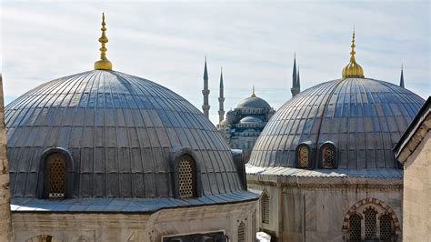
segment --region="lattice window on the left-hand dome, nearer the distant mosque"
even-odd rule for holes
[[[183,156],[178,163],[179,197],[195,197],[195,162]]]

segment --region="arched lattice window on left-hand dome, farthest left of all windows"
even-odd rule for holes
[[[48,197],[65,197],[65,156],[52,154],[46,159]]]

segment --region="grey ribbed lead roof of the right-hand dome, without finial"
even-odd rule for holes
[[[397,169],[392,147],[424,102],[405,88],[369,78],[311,87],[276,111],[256,141],[247,172],[251,166],[296,167],[300,144],[311,149],[308,169],[318,169],[319,148],[327,142],[336,148],[338,172],[386,176],[385,169]]]

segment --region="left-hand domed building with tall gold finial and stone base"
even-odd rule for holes
[[[105,30],[94,70],[5,107],[14,240],[254,241],[241,156],[182,96],[114,71]]]

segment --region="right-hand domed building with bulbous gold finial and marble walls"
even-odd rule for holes
[[[277,241],[401,241],[403,169],[392,147],[425,100],[365,77],[355,32],[342,78],[310,87],[269,120],[248,164],[263,191],[259,230]],[[424,204],[425,205],[425,204]]]

